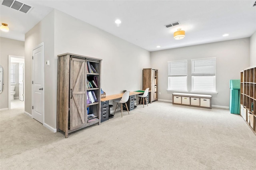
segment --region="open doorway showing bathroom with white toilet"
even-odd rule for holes
[[[8,107],[24,108],[24,57],[9,55]]]

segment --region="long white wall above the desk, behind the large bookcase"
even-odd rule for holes
[[[107,95],[141,89],[142,69],[150,67],[149,51],[58,10],[54,46],[55,56],[68,52],[102,59],[101,85]]]

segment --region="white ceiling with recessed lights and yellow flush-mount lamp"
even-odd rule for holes
[[[148,51],[248,38],[256,31],[255,0],[18,0],[32,6],[27,14],[2,5],[1,37],[24,41],[24,34],[53,9],[138,45]],[[120,26],[115,20],[120,19]],[[174,22],[180,25],[166,28]],[[174,40],[178,29],[186,31]],[[223,37],[223,34],[229,36]],[[157,46],[160,47],[157,47]]]

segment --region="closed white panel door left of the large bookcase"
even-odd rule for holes
[[[32,117],[44,123],[44,45],[33,50]]]

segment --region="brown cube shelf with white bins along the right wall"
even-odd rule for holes
[[[240,72],[240,115],[256,133],[256,67]]]

